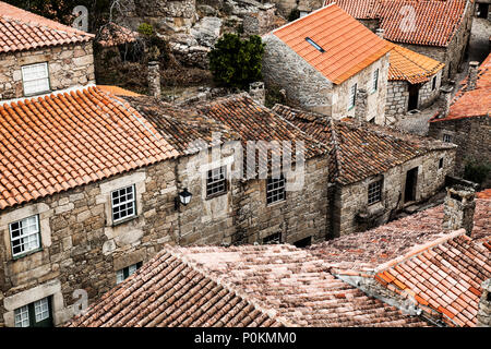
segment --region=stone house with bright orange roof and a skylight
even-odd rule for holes
[[[266,86],[289,104],[334,119],[385,123],[388,43],[336,4],[263,36]]]

